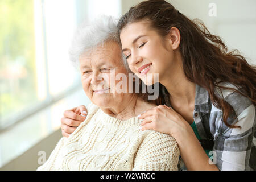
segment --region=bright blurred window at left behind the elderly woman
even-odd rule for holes
[[[0,129],[79,84],[68,48],[77,1],[0,1]]]

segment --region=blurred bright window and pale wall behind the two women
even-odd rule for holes
[[[0,170],[35,170],[61,137],[64,110],[89,103],[68,57],[77,25],[138,2],[0,0]],[[168,2],[256,64],[256,1]]]

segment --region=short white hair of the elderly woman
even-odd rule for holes
[[[101,15],[90,23],[82,23],[73,35],[69,48],[69,58],[72,64],[79,67],[79,56],[82,53],[93,51],[94,48],[103,46],[107,41],[117,42],[121,46],[117,20],[114,20],[112,16]],[[123,54],[122,59],[124,60]],[[130,71],[127,64],[125,66]]]

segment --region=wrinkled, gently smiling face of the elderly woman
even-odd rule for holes
[[[114,92],[120,80],[113,80],[113,77],[119,73],[127,77],[128,73],[122,64],[121,48],[117,43],[106,42],[104,46],[80,56],[79,61],[82,87],[94,104],[109,108],[122,102],[125,93]]]

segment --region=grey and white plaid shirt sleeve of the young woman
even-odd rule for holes
[[[225,101],[234,109],[227,122],[241,126],[241,129],[226,126],[221,113],[219,118],[222,124],[217,129],[219,133],[214,136],[213,162],[215,159],[217,167],[222,171],[248,170],[255,127],[255,106],[248,98],[235,92],[228,94]]]

